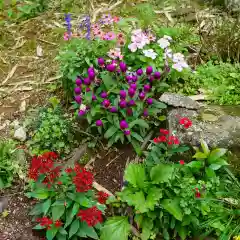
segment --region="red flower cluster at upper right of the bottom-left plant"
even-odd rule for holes
[[[76,176],[73,177],[73,183],[76,185],[77,192],[87,192],[92,188],[93,174],[79,164],[75,165]]]

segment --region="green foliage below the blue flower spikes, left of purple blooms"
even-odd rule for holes
[[[107,41],[87,39],[71,39],[60,50],[57,60],[62,73],[62,86],[68,99],[72,98],[74,81],[77,76],[87,71],[98,57],[102,57],[110,49]]]

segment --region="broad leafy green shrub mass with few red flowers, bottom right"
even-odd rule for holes
[[[180,124],[188,128],[191,121],[181,118]],[[210,151],[202,142],[202,151],[193,156],[196,160],[173,163],[171,156],[186,149],[181,149],[177,137],[167,130],[160,132],[146,161],[126,168],[118,198],[109,199],[123,215],[128,213],[130,221],[125,216],[109,218],[101,239],[113,240],[117,229],[123,240],[130,234],[146,240],[208,235],[230,239],[239,235],[239,181],[225,175],[226,150]],[[238,190],[229,186],[230,176]]]

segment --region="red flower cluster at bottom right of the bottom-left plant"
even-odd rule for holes
[[[80,210],[77,216],[80,217],[82,221],[85,221],[89,227],[93,227],[103,221],[102,212],[97,209],[96,206]]]

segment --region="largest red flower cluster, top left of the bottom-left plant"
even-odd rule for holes
[[[39,175],[45,174],[43,180],[44,184],[52,183],[57,177],[59,177],[61,167],[54,166],[54,160],[58,158],[58,155],[54,152],[47,152],[38,157],[32,158],[31,168],[29,170],[29,178],[37,181]]]

